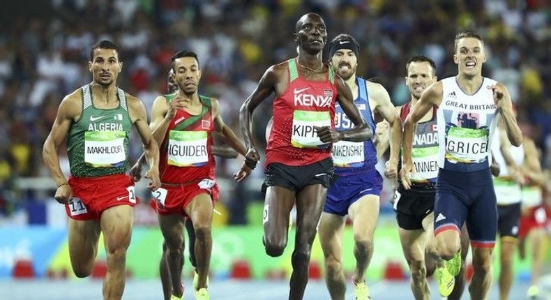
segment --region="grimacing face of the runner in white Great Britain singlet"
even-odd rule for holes
[[[486,62],[484,44],[478,38],[461,38],[453,54],[461,75],[481,75],[482,64]]]

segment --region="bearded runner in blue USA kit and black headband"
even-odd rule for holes
[[[391,157],[386,164],[386,177],[398,175],[398,153],[402,128],[386,89],[381,84],[356,77],[358,42],[347,34],[335,37],[329,46],[329,57],[335,73],[340,75],[354,94],[354,103],[375,131],[373,112],[379,112],[391,126]],[[335,105],[335,129],[347,130],[353,123]],[[356,299],[370,299],[365,271],[373,254],[373,233],[379,217],[379,195],[383,179],[375,170],[377,152],[372,141],[333,144],[333,165],[337,181],[329,188],[319,224],[319,240],[325,257],[326,283],[332,300],[345,299],[345,274],[342,271],[342,231],[345,217],[352,219],[356,269],[352,283]]]

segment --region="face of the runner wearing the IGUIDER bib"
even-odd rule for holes
[[[174,82],[183,93],[195,93],[200,79],[199,62],[194,57],[180,57],[174,60]]]

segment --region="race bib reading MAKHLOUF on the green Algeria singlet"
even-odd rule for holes
[[[84,163],[92,167],[117,167],[126,160],[124,131],[86,131]]]

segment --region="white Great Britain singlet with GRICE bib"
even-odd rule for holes
[[[478,90],[467,95],[455,77],[441,80],[442,102],[437,111],[439,167],[457,172],[490,167],[497,109],[492,90],[486,87],[495,83],[483,77]]]

